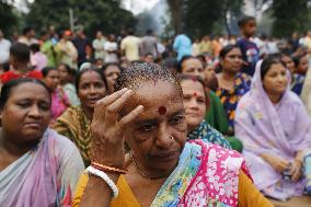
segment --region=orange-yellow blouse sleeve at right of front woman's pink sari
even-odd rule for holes
[[[273,207],[274,205],[264,197],[253,182],[243,173],[239,174],[239,207]]]

